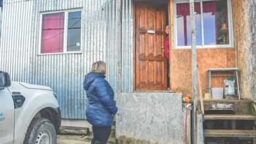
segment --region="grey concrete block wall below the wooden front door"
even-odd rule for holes
[[[119,94],[116,100],[119,107],[116,137],[119,143],[184,143],[185,110],[182,109],[181,94],[135,92]],[[188,135],[189,129],[190,124]]]

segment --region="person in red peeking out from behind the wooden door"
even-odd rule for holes
[[[167,90],[171,90],[170,88],[170,52],[169,52],[169,25],[165,27],[165,58],[167,59]]]

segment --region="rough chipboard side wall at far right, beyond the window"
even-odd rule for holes
[[[232,1],[234,22],[234,44],[238,68],[240,69],[240,92],[244,98],[249,98],[249,46],[251,39],[249,26],[249,1]]]

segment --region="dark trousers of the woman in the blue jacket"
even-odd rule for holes
[[[93,126],[93,140],[91,144],[106,144],[110,137],[111,126]]]

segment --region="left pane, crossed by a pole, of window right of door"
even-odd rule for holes
[[[195,3],[196,45],[202,45],[202,23],[200,3]],[[178,46],[191,45],[189,3],[177,3],[177,42]]]

